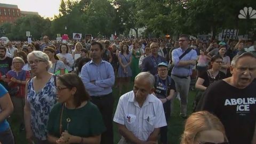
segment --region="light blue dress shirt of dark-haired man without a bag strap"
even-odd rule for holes
[[[101,60],[99,65],[91,60],[83,66],[81,79],[91,96],[109,94],[112,92],[111,86],[115,84],[114,69],[105,60]],[[92,84],[91,81],[95,81],[95,84]]]

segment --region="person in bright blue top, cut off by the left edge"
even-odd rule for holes
[[[1,75],[0,75],[1,76]],[[12,131],[6,118],[12,114],[13,105],[9,93],[0,84],[0,143],[14,144]]]

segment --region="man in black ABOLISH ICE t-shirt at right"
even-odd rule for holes
[[[216,115],[225,127],[230,144],[256,140],[256,57],[243,53],[231,62],[233,76],[210,85],[199,101],[197,111]]]

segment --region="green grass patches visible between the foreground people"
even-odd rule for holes
[[[125,88],[126,88],[126,90],[132,90],[132,87],[133,87],[133,84],[131,83],[131,85],[129,85],[128,87],[125,87]],[[195,91],[189,92],[188,115],[192,113],[192,104],[195,99],[195,94],[196,94]],[[115,97],[114,113],[113,113],[113,116],[114,116],[116,106],[118,103],[118,99],[119,99],[117,89],[113,89],[113,95]],[[169,119],[169,124],[168,124],[168,140],[169,140],[169,143],[178,144],[178,143],[180,143],[180,136],[184,129],[185,120],[183,118],[179,117],[179,114],[180,114],[179,100],[175,99],[173,101],[173,105],[174,105],[173,106],[173,114],[172,114],[171,118]],[[26,141],[25,131],[22,131],[22,132],[19,131],[19,125],[18,125],[19,119],[15,118],[15,116],[12,116],[11,118],[8,119],[8,121],[11,125],[11,129],[14,134],[15,143],[26,144],[27,141]],[[120,140],[120,138],[121,138],[121,136],[119,135],[119,133],[117,131],[117,127],[114,124],[114,143],[117,143]]]

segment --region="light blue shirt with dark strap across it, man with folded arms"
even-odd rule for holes
[[[172,51],[172,62],[174,64],[174,67],[172,69],[172,75],[178,75],[178,76],[190,76],[192,75],[192,68],[195,65],[187,65],[187,66],[177,66],[180,59],[180,55],[182,55],[185,52],[185,50],[182,50],[181,47],[178,49],[174,49]],[[187,60],[196,60],[197,59],[197,53],[195,50],[191,50],[189,53],[187,53],[183,58],[181,58],[182,61]]]

